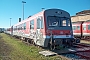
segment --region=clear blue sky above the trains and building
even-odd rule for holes
[[[58,8],[70,13],[74,16],[77,12],[90,10],[90,0],[0,0],[0,28],[8,28],[18,23],[18,19],[24,19],[30,15],[34,15],[42,8]],[[11,18],[11,25],[10,25]]]

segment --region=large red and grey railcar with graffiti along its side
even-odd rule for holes
[[[48,47],[77,43],[73,36],[70,14],[61,9],[43,10],[13,25],[12,34],[33,39],[34,44]]]

